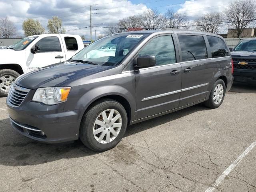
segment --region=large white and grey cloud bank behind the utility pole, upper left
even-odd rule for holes
[[[38,19],[47,32],[48,19],[52,16],[62,18],[62,23],[69,34],[90,36],[90,28],[74,30],[90,26],[90,5],[92,4],[93,38],[104,34],[104,28],[116,24],[120,18],[142,13],[147,9],[144,4],[132,4],[129,0],[0,0],[0,17],[8,16],[22,32],[22,22],[26,18]],[[68,31],[72,30],[72,31]]]

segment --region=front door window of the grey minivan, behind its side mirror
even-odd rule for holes
[[[156,65],[176,63],[176,56],[172,36],[160,36],[149,42],[139,53],[156,57]]]

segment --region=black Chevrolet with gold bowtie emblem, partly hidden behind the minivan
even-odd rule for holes
[[[234,80],[256,82],[256,38],[242,40],[231,54],[234,61]]]

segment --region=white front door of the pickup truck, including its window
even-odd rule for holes
[[[44,37],[38,40],[35,45],[40,46],[40,50],[35,54],[33,54],[30,49],[26,50],[28,71],[66,60],[58,34],[56,34],[56,36]]]

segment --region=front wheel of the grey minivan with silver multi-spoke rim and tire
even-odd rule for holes
[[[94,151],[114,148],[123,138],[127,127],[124,107],[115,100],[100,100],[82,118],[79,138]]]

